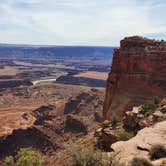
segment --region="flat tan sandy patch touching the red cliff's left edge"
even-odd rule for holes
[[[87,71],[74,75],[75,77],[86,77],[99,80],[106,80],[108,77],[107,72]]]

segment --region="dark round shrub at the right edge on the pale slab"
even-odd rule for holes
[[[152,160],[166,157],[166,148],[163,145],[154,145],[150,149],[149,154]]]

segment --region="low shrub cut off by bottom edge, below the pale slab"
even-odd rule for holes
[[[152,166],[151,162],[142,157],[134,157],[130,166]]]

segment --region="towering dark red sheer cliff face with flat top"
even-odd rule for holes
[[[125,111],[129,103],[166,94],[166,42],[139,36],[125,38],[115,49],[107,80],[103,116]]]

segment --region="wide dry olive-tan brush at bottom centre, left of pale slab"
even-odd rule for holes
[[[116,155],[108,156],[107,153],[93,146],[83,147],[72,144],[68,149],[68,154],[70,161],[66,164],[67,166],[118,166]]]

